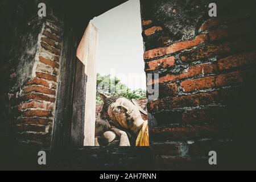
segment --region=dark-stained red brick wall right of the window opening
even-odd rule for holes
[[[195,34],[185,38],[184,24],[177,36],[184,35],[175,40],[168,13],[162,19],[154,13],[162,7],[175,14],[176,4],[141,2],[145,71],[159,73],[159,80],[147,83],[159,82],[159,98],[149,100],[147,106],[157,122],[150,132],[156,168],[209,168],[210,150],[231,154],[234,138],[242,146],[239,139],[255,126],[251,123],[255,120],[253,10],[235,3],[231,12],[224,9],[229,1],[217,3],[217,18],[203,10],[203,18],[192,26]],[[184,13],[181,18],[189,17]]]

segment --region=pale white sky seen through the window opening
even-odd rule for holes
[[[130,0],[93,18],[98,28],[96,69],[117,76],[130,89],[146,89],[139,0]]]

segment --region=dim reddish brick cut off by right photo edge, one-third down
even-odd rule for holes
[[[218,60],[218,69],[224,71],[231,68],[250,65],[256,62],[256,52],[242,53],[240,55],[232,55]]]

